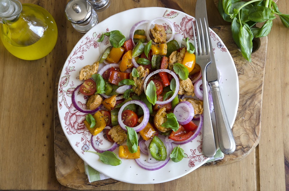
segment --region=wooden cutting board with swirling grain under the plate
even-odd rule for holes
[[[221,160],[204,164],[214,166],[237,162],[246,157],[259,143],[260,122],[262,108],[262,94],[264,82],[264,69],[267,51],[267,37],[255,40],[255,52],[252,62],[249,63],[242,57],[241,51],[235,45],[230,26],[217,26],[212,28],[222,39],[235,62],[240,87],[240,100],[238,113],[232,132],[236,141],[236,151],[225,155]],[[105,179],[88,182],[84,172],[84,162],[70,146],[62,127],[57,111],[58,81],[61,70],[55,81],[54,104],[54,149],[55,149],[55,174],[57,180],[64,186],[79,190],[88,190],[119,183],[114,179]]]

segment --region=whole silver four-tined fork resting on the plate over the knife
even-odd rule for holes
[[[199,25],[198,25],[199,22]],[[202,81],[203,81],[203,154],[207,157],[212,157],[216,154],[216,144],[214,138],[214,132],[211,121],[211,114],[209,108],[209,99],[208,99],[208,88],[207,88],[207,76],[206,69],[207,66],[211,63],[211,51],[210,51],[210,42],[209,42],[209,33],[207,23],[205,18],[202,20],[201,18],[196,18],[196,31],[199,42],[199,53],[198,46],[195,35],[194,23],[193,26],[193,34],[194,34],[194,43],[195,43],[195,51],[196,51],[196,63],[201,66],[202,72]],[[204,27],[203,27],[204,26]],[[203,30],[203,28],[205,30]],[[201,31],[201,33],[199,32]]]

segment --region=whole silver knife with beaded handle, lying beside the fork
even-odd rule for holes
[[[206,1],[205,0],[197,0],[196,3],[196,17],[205,17],[207,18],[207,9],[206,9]],[[207,23],[208,33],[209,33],[209,25]],[[210,34],[209,34],[210,36]],[[216,117],[216,127],[217,127],[217,136],[219,141],[220,150],[224,154],[231,154],[236,149],[236,143],[231,131],[230,124],[228,122],[227,114],[225,111],[225,107],[223,104],[219,82],[218,82],[218,72],[216,68],[216,61],[214,57],[214,52],[212,51],[212,42],[210,41],[211,47],[211,63],[207,67],[207,81],[210,85],[213,104],[215,109],[215,117]]]

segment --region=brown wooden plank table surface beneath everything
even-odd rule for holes
[[[20,0],[48,10],[58,26],[55,48],[46,57],[24,61],[0,43],[0,189],[69,190],[55,177],[54,84],[81,34],[66,20],[68,0]],[[192,0],[111,0],[99,22],[137,7],[167,7],[194,16]],[[289,14],[286,0],[277,2]],[[229,25],[207,0],[210,26]],[[279,17],[268,35],[260,143],[239,162],[198,168],[179,179],[149,185],[118,183],[98,190],[289,190],[288,51],[289,29]],[[17,130],[17,134],[15,133]]]

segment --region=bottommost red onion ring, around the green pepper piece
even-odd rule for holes
[[[166,147],[166,155],[167,155],[166,159],[164,161],[158,161],[156,163],[149,163],[151,161],[150,159],[153,159],[153,158],[148,158],[147,160],[143,160],[142,158],[135,159],[136,164],[138,164],[138,166],[140,166],[141,168],[149,170],[149,171],[155,171],[164,167],[168,163],[168,161],[171,159],[170,154],[173,150],[172,143],[167,143],[165,142],[164,138],[160,136],[158,137],[161,139],[161,141],[164,143]],[[150,152],[148,151],[148,153]]]

